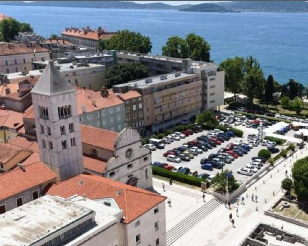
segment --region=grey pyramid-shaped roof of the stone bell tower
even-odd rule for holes
[[[58,68],[49,62],[31,92],[52,96],[73,91],[75,89],[60,74]]]

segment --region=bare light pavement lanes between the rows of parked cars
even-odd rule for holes
[[[212,153],[217,153],[217,151],[220,148],[226,147],[228,143],[234,143],[237,139],[242,139],[243,142],[245,142],[247,140],[248,134],[257,134],[257,132],[258,132],[257,129],[247,128],[245,126],[237,126],[236,128],[240,129],[244,132],[243,137],[241,137],[241,138],[239,138],[239,137],[230,138],[229,141],[225,141],[224,143],[221,143],[221,145],[217,145],[217,147],[214,147],[213,149],[209,149],[208,151],[203,152],[202,154],[198,154],[197,156],[194,156],[194,159],[192,159],[188,162],[183,161],[183,160],[180,163],[169,162],[169,161],[167,161],[167,158],[163,156],[163,154],[165,152],[167,152],[168,150],[172,150],[173,148],[180,147],[184,143],[192,141],[193,139],[196,139],[197,137],[199,137],[203,134],[206,134],[207,131],[195,133],[195,134],[190,135],[190,136],[188,136],[184,139],[180,139],[180,141],[174,141],[170,144],[167,144],[164,149],[156,149],[155,151],[152,151],[152,161],[159,161],[161,163],[168,163],[168,165],[171,165],[171,166],[188,167],[192,172],[198,171],[198,174],[208,173],[210,175],[215,175],[216,173],[221,172],[221,169],[214,168],[213,171],[201,169],[200,160],[202,158],[208,157]],[[279,149],[281,149],[280,146],[277,146],[277,147]],[[225,163],[224,169],[232,170],[233,174],[235,175],[235,178],[240,182],[244,182],[246,179],[249,178],[249,176],[238,174],[237,170],[240,169],[241,167],[243,167],[244,165],[249,164],[249,162],[251,161],[251,158],[253,156],[257,156],[258,152],[261,149],[264,149],[264,148],[266,148],[266,147],[261,146],[261,144],[259,144],[257,147],[253,147],[248,152],[248,154],[243,155],[243,156],[239,156],[237,159],[232,161],[232,163],[230,163],[230,164]]]

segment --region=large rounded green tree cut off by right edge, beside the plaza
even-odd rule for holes
[[[296,161],[292,167],[294,192],[298,200],[308,203],[308,156]]]

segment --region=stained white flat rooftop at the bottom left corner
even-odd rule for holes
[[[59,229],[95,216],[91,209],[54,196],[42,196],[1,215],[0,245],[29,245]]]

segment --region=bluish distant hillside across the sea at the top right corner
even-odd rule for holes
[[[308,12],[308,2],[305,1],[233,1],[217,2],[216,4],[235,11],[286,13]]]

